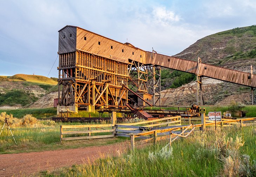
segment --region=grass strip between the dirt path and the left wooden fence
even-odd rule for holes
[[[62,144],[60,144],[60,125],[67,124],[74,125],[81,123],[55,123],[54,121],[37,121],[33,125],[21,125],[18,127],[13,124],[11,125],[11,130],[17,145],[14,143],[11,133],[4,129],[0,136],[0,154],[101,146],[124,141],[123,138],[106,138],[63,141]]]

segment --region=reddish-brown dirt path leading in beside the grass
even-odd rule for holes
[[[127,143],[67,150],[0,155],[0,176],[31,175],[42,170],[57,169],[84,162],[93,162],[102,155],[116,155]]]

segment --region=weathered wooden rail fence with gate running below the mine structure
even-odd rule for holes
[[[254,121],[251,123],[251,121]],[[216,125],[229,126],[231,124],[240,124],[241,127],[248,125],[256,125],[256,118],[245,118],[237,120],[223,120],[216,121]],[[135,148],[135,138],[142,138],[144,140],[136,142],[136,144],[144,144],[150,141],[159,141],[166,138],[166,136],[160,135],[175,135],[180,137],[187,137],[188,135],[182,135],[186,133],[188,129],[192,129],[193,132],[195,128],[201,128],[206,126],[214,126],[215,121],[203,121],[201,124],[189,124],[181,125],[181,116],[166,117],[150,121],[135,122],[135,123],[123,123],[116,124],[116,113],[112,112],[112,123],[111,124],[92,124],[92,125],[60,125],[60,142],[65,140],[74,139],[93,139],[93,138],[109,138],[114,136],[124,136],[131,138],[131,148]],[[206,123],[208,122],[208,123]],[[250,122],[250,123],[249,123]],[[165,125],[164,127],[160,127]],[[67,130],[69,129],[69,130]],[[177,131],[181,132],[177,134]],[[109,133],[108,135],[99,135],[99,133]],[[94,135],[95,133],[98,133]],[[81,135],[85,136],[73,136],[73,137],[63,137],[63,135]],[[157,137],[158,136],[158,137]],[[176,137],[177,138],[177,137]],[[174,138],[172,141],[174,141]]]

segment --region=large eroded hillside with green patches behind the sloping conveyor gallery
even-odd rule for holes
[[[174,57],[192,61],[197,61],[198,57],[200,57],[202,63],[248,73],[250,73],[250,66],[252,65],[255,73],[256,25],[234,28],[206,36],[197,40],[182,52],[174,55]],[[188,86],[180,87],[181,84],[186,84],[191,82],[191,80],[195,80],[195,77],[193,76],[195,75],[163,69],[161,72],[162,90],[176,88],[175,90],[169,89],[164,91],[167,100],[165,104],[182,105],[195,103],[195,86],[190,84],[189,94],[183,94],[184,89],[188,88]],[[203,80],[203,97],[205,98],[205,104],[212,105],[218,102],[221,102],[222,104],[222,100],[228,104],[228,102],[234,98],[236,98],[235,101],[240,100],[240,102],[244,104],[251,103],[250,88],[248,87],[227,82],[216,84],[206,82],[209,81]],[[191,97],[190,101],[188,101],[188,97]],[[256,102],[256,99],[254,99],[254,102]]]

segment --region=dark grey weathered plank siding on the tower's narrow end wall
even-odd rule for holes
[[[70,37],[70,34],[72,35]],[[63,36],[65,35],[65,38]],[[59,54],[76,50],[76,27],[66,26],[59,31]]]

